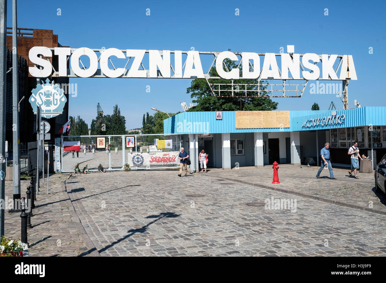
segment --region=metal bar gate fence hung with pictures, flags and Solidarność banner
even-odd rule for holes
[[[126,147],[125,137],[134,137],[134,147]],[[105,138],[104,145],[97,144],[97,139]],[[61,138],[61,172],[73,172],[76,164],[79,169],[88,165],[90,171],[97,171],[99,164],[106,170],[123,170],[128,163],[129,152],[149,152],[150,146],[156,146],[158,140],[172,140],[172,149],[162,149],[162,152],[176,152],[181,148],[181,135],[148,134],[148,135],[109,135],[109,136],[62,136]],[[63,151],[65,141],[79,141],[80,151]],[[110,151],[106,145],[111,144]],[[86,152],[83,150],[86,146]],[[99,147],[99,148],[98,148]],[[142,151],[141,151],[142,150]],[[179,168],[179,166],[161,166],[157,168]],[[130,169],[151,169],[151,167],[133,167]]]

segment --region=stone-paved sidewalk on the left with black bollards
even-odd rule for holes
[[[47,183],[42,184],[39,195],[36,196],[31,217],[33,228],[28,229],[30,256],[98,256],[92,250],[94,245],[88,238],[74,207],[66,192],[64,181],[69,174],[52,174],[49,177],[49,194]],[[47,180],[46,180],[47,181]],[[30,180],[20,181],[21,196],[25,197]],[[12,181],[5,182],[5,196],[13,198]],[[5,211],[5,237],[19,239],[21,237],[20,213]]]

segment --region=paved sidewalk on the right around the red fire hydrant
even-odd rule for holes
[[[303,165],[300,168],[290,164],[279,164],[280,184],[272,184],[273,169],[268,165],[259,169],[232,168],[231,171],[212,168],[208,169],[207,173],[199,174],[386,215],[385,194],[375,191],[374,173],[359,172],[357,174],[359,179],[355,179],[354,174],[350,178],[348,169],[333,168],[337,180],[330,179],[328,170],[323,170],[320,179],[317,179],[318,169],[319,166]]]

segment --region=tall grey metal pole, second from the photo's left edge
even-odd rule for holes
[[[14,145],[13,183],[14,183],[14,208],[20,201],[20,146],[19,146],[19,67],[17,64],[17,3],[12,1],[12,136]]]

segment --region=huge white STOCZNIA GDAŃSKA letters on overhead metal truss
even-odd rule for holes
[[[99,58],[97,53],[100,54]],[[147,55],[145,56],[145,54]],[[203,72],[201,64],[201,56],[206,54],[214,55],[215,59],[213,59],[212,65],[215,63],[217,73],[223,79],[357,79],[352,55],[233,53],[230,51],[198,52],[194,50],[120,50],[117,48],[90,49],[87,47],[78,49],[55,47],[50,49],[42,46],[35,46],[29,50],[29,60],[36,64],[35,67],[29,67],[29,72],[34,77],[49,77],[52,75],[53,77],[209,78],[210,75],[208,72]],[[49,58],[54,55],[58,56],[58,70],[54,70],[49,61]],[[42,56],[45,56],[47,59],[41,58]],[[67,69],[69,56],[70,69]],[[81,56],[88,57],[90,66],[80,67],[79,60]],[[277,62],[278,57],[281,61],[281,70]],[[336,68],[337,72],[334,70],[334,64],[338,57],[341,59],[339,61],[341,63],[339,64],[340,73],[338,68]],[[225,59],[239,62],[242,74],[240,75],[239,68],[224,70],[223,62]],[[121,63],[115,63],[114,66],[117,66],[117,68],[110,69],[108,66],[110,60],[120,60]],[[129,64],[129,62],[131,63]],[[319,62],[322,62],[321,70],[319,65],[316,65]],[[253,65],[253,69],[250,68],[250,64]],[[149,69],[145,69],[144,65],[149,66]],[[127,69],[128,66],[130,69]],[[291,77],[288,75],[289,72]]]

